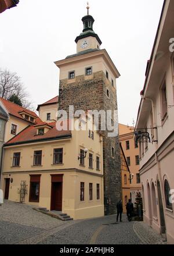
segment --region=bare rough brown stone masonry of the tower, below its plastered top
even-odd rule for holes
[[[86,80],[85,76],[77,76],[73,83],[60,80],[59,109],[68,112],[69,105],[74,105],[74,111],[82,109],[109,110],[117,109],[117,93],[106,75],[101,72],[93,73]],[[107,89],[110,97],[107,97]],[[103,131],[103,164],[104,164],[104,205],[105,214],[115,214],[117,202],[121,199],[121,164],[119,138],[107,137]],[[111,148],[114,147],[114,158]]]

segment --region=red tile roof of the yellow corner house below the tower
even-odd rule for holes
[[[68,121],[67,121],[68,122]],[[47,123],[46,123],[47,124]],[[47,131],[43,135],[37,135],[37,127],[34,125],[26,127],[26,129],[22,130],[19,134],[11,138],[7,143],[4,144],[20,144],[20,143],[29,143],[29,142],[36,142],[36,141],[44,141],[44,140],[52,140],[53,138],[63,137],[63,136],[71,136],[71,131],[68,130],[61,130],[58,131],[56,129],[56,122],[48,123],[47,125],[52,126],[49,131]],[[68,122],[69,127],[69,122]]]

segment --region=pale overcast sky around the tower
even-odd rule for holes
[[[0,15],[0,67],[21,76],[35,108],[59,92],[54,61],[76,52],[84,0],[20,0]],[[163,0],[89,0],[94,31],[121,77],[117,80],[119,122],[136,121],[147,60]]]

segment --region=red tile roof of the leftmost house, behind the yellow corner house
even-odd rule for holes
[[[28,115],[34,116],[34,118],[36,118],[35,119],[36,123],[42,122],[42,120],[38,117],[38,115],[35,112],[30,111],[26,108],[23,108],[23,106],[19,106],[13,102],[7,101],[6,99],[3,99],[1,97],[0,97],[0,101],[5,106],[6,110],[9,112],[10,115],[16,116],[17,118],[20,118],[23,120],[26,120],[23,118],[23,116],[20,115],[20,112],[25,112],[25,113],[28,113]],[[27,122],[30,122],[30,121],[27,121]]]

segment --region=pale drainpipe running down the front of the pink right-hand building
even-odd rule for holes
[[[155,104],[154,104],[153,99],[147,98],[147,97],[143,97],[143,95],[141,95],[141,96],[142,96],[142,99],[144,99],[144,100],[147,99],[147,100],[151,101],[151,105],[152,105],[152,110],[153,110],[153,126],[154,126],[153,128],[155,128],[154,129],[155,130],[154,131],[155,161],[157,162],[157,166],[158,166],[158,177],[159,177],[159,180],[160,180],[161,199],[162,199],[162,205],[163,205],[163,211],[164,211],[164,209],[165,209],[165,200],[164,200],[164,193],[162,191],[161,165],[160,165],[160,161],[158,160],[158,155],[157,155],[157,150],[158,150],[158,133],[157,133],[157,124],[156,124],[156,116],[155,116]],[[159,200],[158,200],[158,202],[159,202]],[[159,204],[158,204],[158,209],[159,209]],[[160,209],[159,209],[159,212],[160,212]],[[164,219],[165,219],[165,223],[166,223],[165,212],[164,212]],[[160,223],[160,225],[161,225],[161,223]],[[165,234],[166,234],[166,225],[165,225]]]

